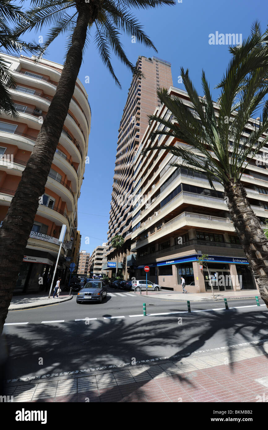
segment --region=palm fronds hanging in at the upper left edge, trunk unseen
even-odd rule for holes
[[[40,48],[38,45],[25,43],[12,34],[13,30],[10,25],[14,26],[23,21],[25,22],[25,17],[19,6],[15,6],[10,0],[0,0],[0,47],[6,49],[7,53],[21,52],[22,49],[37,52]],[[0,56],[0,111],[12,114],[15,118],[17,112],[8,88],[15,88],[15,81],[3,57]]]

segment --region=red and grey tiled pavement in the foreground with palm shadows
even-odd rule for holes
[[[267,377],[263,342],[180,361],[11,383],[6,394],[14,402],[257,402],[268,401]]]

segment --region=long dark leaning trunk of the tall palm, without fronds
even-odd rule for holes
[[[38,200],[44,194],[49,169],[74,93],[90,18],[92,19],[92,9],[81,2],[72,45],[55,95],[0,229],[0,333],[39,206]]]

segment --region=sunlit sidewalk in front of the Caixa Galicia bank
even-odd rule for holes
[[[146,294],[146,291],[142,292],[142,295]],[[136,293],[138,294],[138,293]],[[149,294],[149,293],[148,293]],[[259,290],[242,290],[242,291],[216,291],[214,292],[215,299],[213,299],[213,294],[211,292],[207,293],[183,293],[177,291],[171,291],[163,294],[163,290],[161,293],[153,293],[154,298],[165,298],[167,300],[181,300],[181,301],[204,301],[204,300],[223,300],[227,299],[236,299],[236,298],[255,298],[258,296],[260,298]]]

